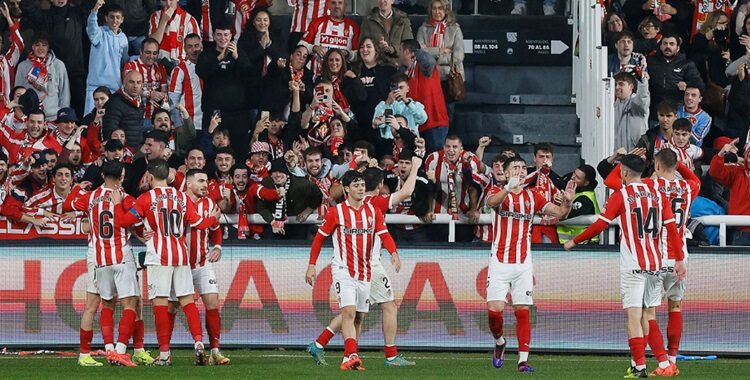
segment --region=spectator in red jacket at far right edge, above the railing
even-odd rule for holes
[[[711,159],[709,174],[718,183],[729,189],[729,215],[750,215],[750,148],[746,145],[743,164],[730,164],[725,161],[729,153],[737,154],[739,139],[725,144]],[[750,227],[737,227],[732,233],[733,245],[750,245]]]

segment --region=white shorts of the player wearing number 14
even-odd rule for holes
[[[661,304],[659,272],[640,269],[620,272],[622,308],[656,307]]]

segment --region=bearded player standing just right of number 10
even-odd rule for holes
[[[208,175],[202,169],[190,169],[185,174],[187,180],[187,195],[194,204],[198,215],[208,215],[216,207],[216,203],[208,195]],[[219,286],[216,274],[211,265],[221,258],[222,230],[216,228],[199,230],[186,228],[186,240],[190,252],[190,268],[193,272],[193,286],[200,294],[206,306],[206,330],[211,347],[209,364],[229,364],[229,358],[219,351],[219,337],[221,335],[221,315],[219,314]],[[209,252],[209,245],[213,245]]]

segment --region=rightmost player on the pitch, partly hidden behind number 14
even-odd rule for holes
[[[680,177],[677,177],[676,172]],[[651,178],[642,179],[643,183],[653,186],[662,193],[669,202],[674,212],[677,232],[682,237],[682,252],[687,261],[687,238],[685,231],[686,224],[690,215],[690,205],[700,192],[701,181],[690,168],[679,162],[677,153],[671,149],[662,149],[654,156],[654,175]],[[620,177],[620,168],[615,167],[607,176],[604,184],[610,189],[619,190],[622,188],[622,178]],[[666,247],[667,234],[662,230],[662,244]],[[643,310],[643,333],[648,336],[648,343],[654,356],[659,360],[659,368],[654,371],[655,375],[663,375],[668,372],[674,372],[678,375],[677,369],[677,351],[680,345],[680,336],[682,335],[682,311],[680,303],[685,295],[685,281],[678,281],[674,273],[675,257],[674,254],[664,249],[662,254],[661,272],[658,276],[649,276],[649,281],[656,281],[655,286],[646,287],[647,305],[654,305]],[[669,306],[669,320],[667,322],[667,348],[664,349],[664,338],[661,329],[656,321],[656,305],[659,305],[662,298],[662,289],[664,289]],[[646,327],[648,330],[646,331]],[[671,364],[671,365],[670,365]],[[673,367],[667,369],[667,367]]]

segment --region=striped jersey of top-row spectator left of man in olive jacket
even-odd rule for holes
[[[354,57],[356,50],[359,49],[359,26],[347,17],[343,21],[336,21],[331,16],[323,16],[310,23],[300,40],[300,45],[305,45],[310,52],[313,46],[348,50],[349,57]],[[310,70],[313,76],[318,77],[322,70],[323,58],[317,54],[311,55],[313,59],[310,62]]]

